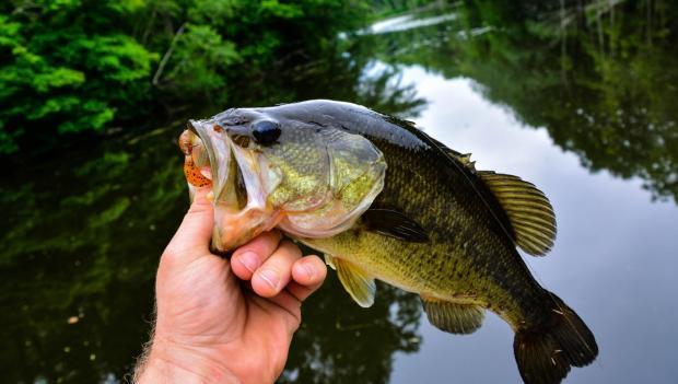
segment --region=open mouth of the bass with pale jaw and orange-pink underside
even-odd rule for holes
[[[268,202],[268,196],[280,183],[280,173],[213,119],[190,120],[188,126],[209,159],[214,206],[212,247],[229,252],[274,228],[282,216]]]

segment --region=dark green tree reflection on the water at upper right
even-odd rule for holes
[[[367,44],[379,46],[384,62],[472,79],[486,98],[546,127],[589,170],[640,177],[655,198],[678,200],[678,9],[563,4],[468,4],[455,9],[456,22]]]

